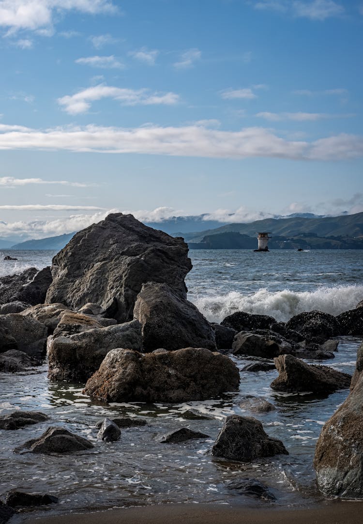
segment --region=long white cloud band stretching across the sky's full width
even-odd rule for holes
[[[89,125],[39,130],[0,124],[0,149],[332,161],[362,157],[363,137],[342,133],[309,142],[288,140],[263,127],[222,131],[196,125],[131,129]]]

